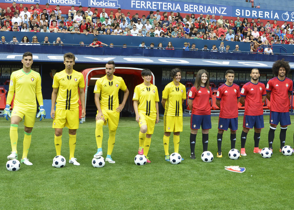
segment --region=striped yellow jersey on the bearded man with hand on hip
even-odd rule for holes
[[[109,81],[106,77],[97,79],[94,93],[100,93],[100,107],[101,109],[108,109],[115,111],[118,107],[118,90],[127,90],[126,83],[123,78],[113,75],[113,79]]]

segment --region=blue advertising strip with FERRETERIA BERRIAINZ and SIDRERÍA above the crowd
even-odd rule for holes
[[[194,14],[209,14],[216,16],[229,16],[229,17],[247,17],[258,18],[268,20],[280,20],[280,21],[294,21],[294,11],[282,11],[271,10],[262,8],[250,8],[250,7],[235,7],[218,4],[200,4],[191,2],[179,2],[179,1],[144,1],[144,0],[0,0],[0,3],[16,3],[23,4],[42,4],[49,3],[50,5],[63,5],[63,6],[79,6],[83,7],[105,7],[116,9],[120,7],[126,10],[145,10],[160,12],[180,12],[180,13],[194,13]],[[62,9],[62,8],[61,8]],[[61,12],[63,12],[61,10]],[[67,12],[63,12],[66,14]]]

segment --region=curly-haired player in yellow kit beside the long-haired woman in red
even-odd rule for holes
[[[170,132],[173,132],[173,144],[175,152],[179,152],[180,132],[183,131],[183,107],[186,99],[186,87],[181,80],[181,69],[175,68],[170,71],[172,82],[168,83],[162,91],[161,104],[165,108],[164,112],[164,136],[163,147],[165,151],[165,160],[170,161],[168,153],[168,144],[170,141]],[[182,158],[182,160],[184,160]]]

